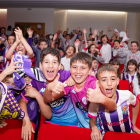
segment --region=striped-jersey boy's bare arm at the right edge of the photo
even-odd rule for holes
[[[134,126],[133,131],[135,133],[140,134],[140,129],[138,129],[136,127],[136,121],[137,121],[137,117],[138,117],[138,114],[139,114],[139,100],[138,99],[136,99],[136,100],[137,100],[137,105],[135,107],[133,107],[133,110],[132,110],[132,112],[133,112],[132,122],[133,122],[133,126]]]

